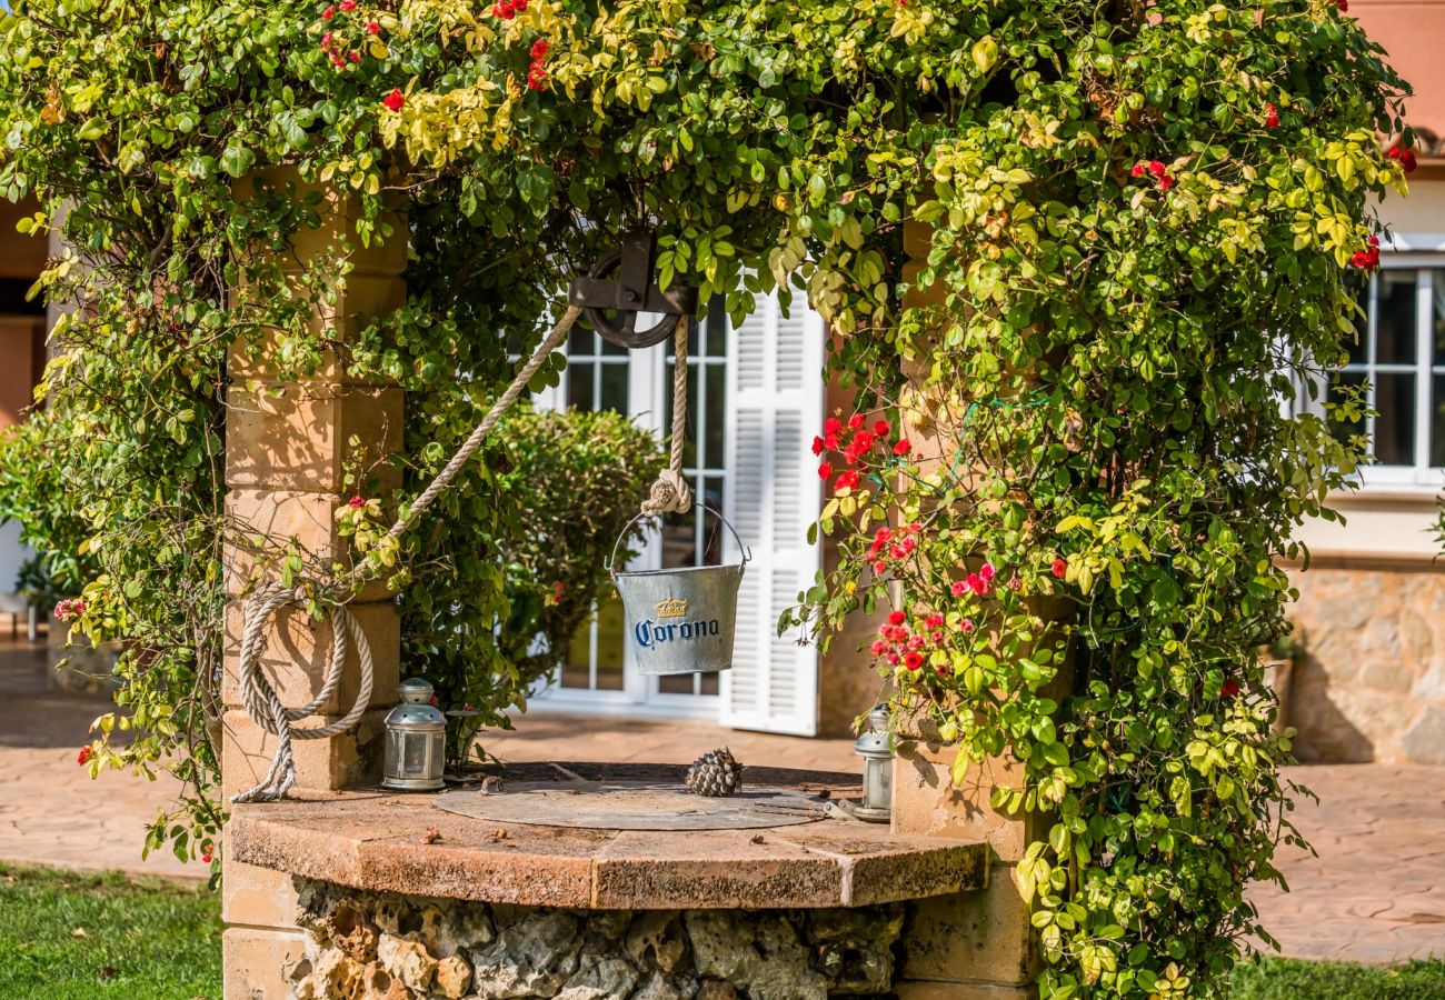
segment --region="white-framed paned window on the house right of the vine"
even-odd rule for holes
[[[1432,264],[1432,266],[1422,266]],[[1439,488],[1445,480],[1445,262],[1387,254],[1361,289],[1366,318],[1329,386],[1368,383],[1364,486]],[[1329,393],[1327,393],[1327,397]]]

